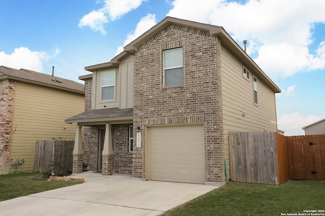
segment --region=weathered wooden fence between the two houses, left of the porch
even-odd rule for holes
[[[39,140],[36,142],[34,171],[72,170],[74,141]]]

